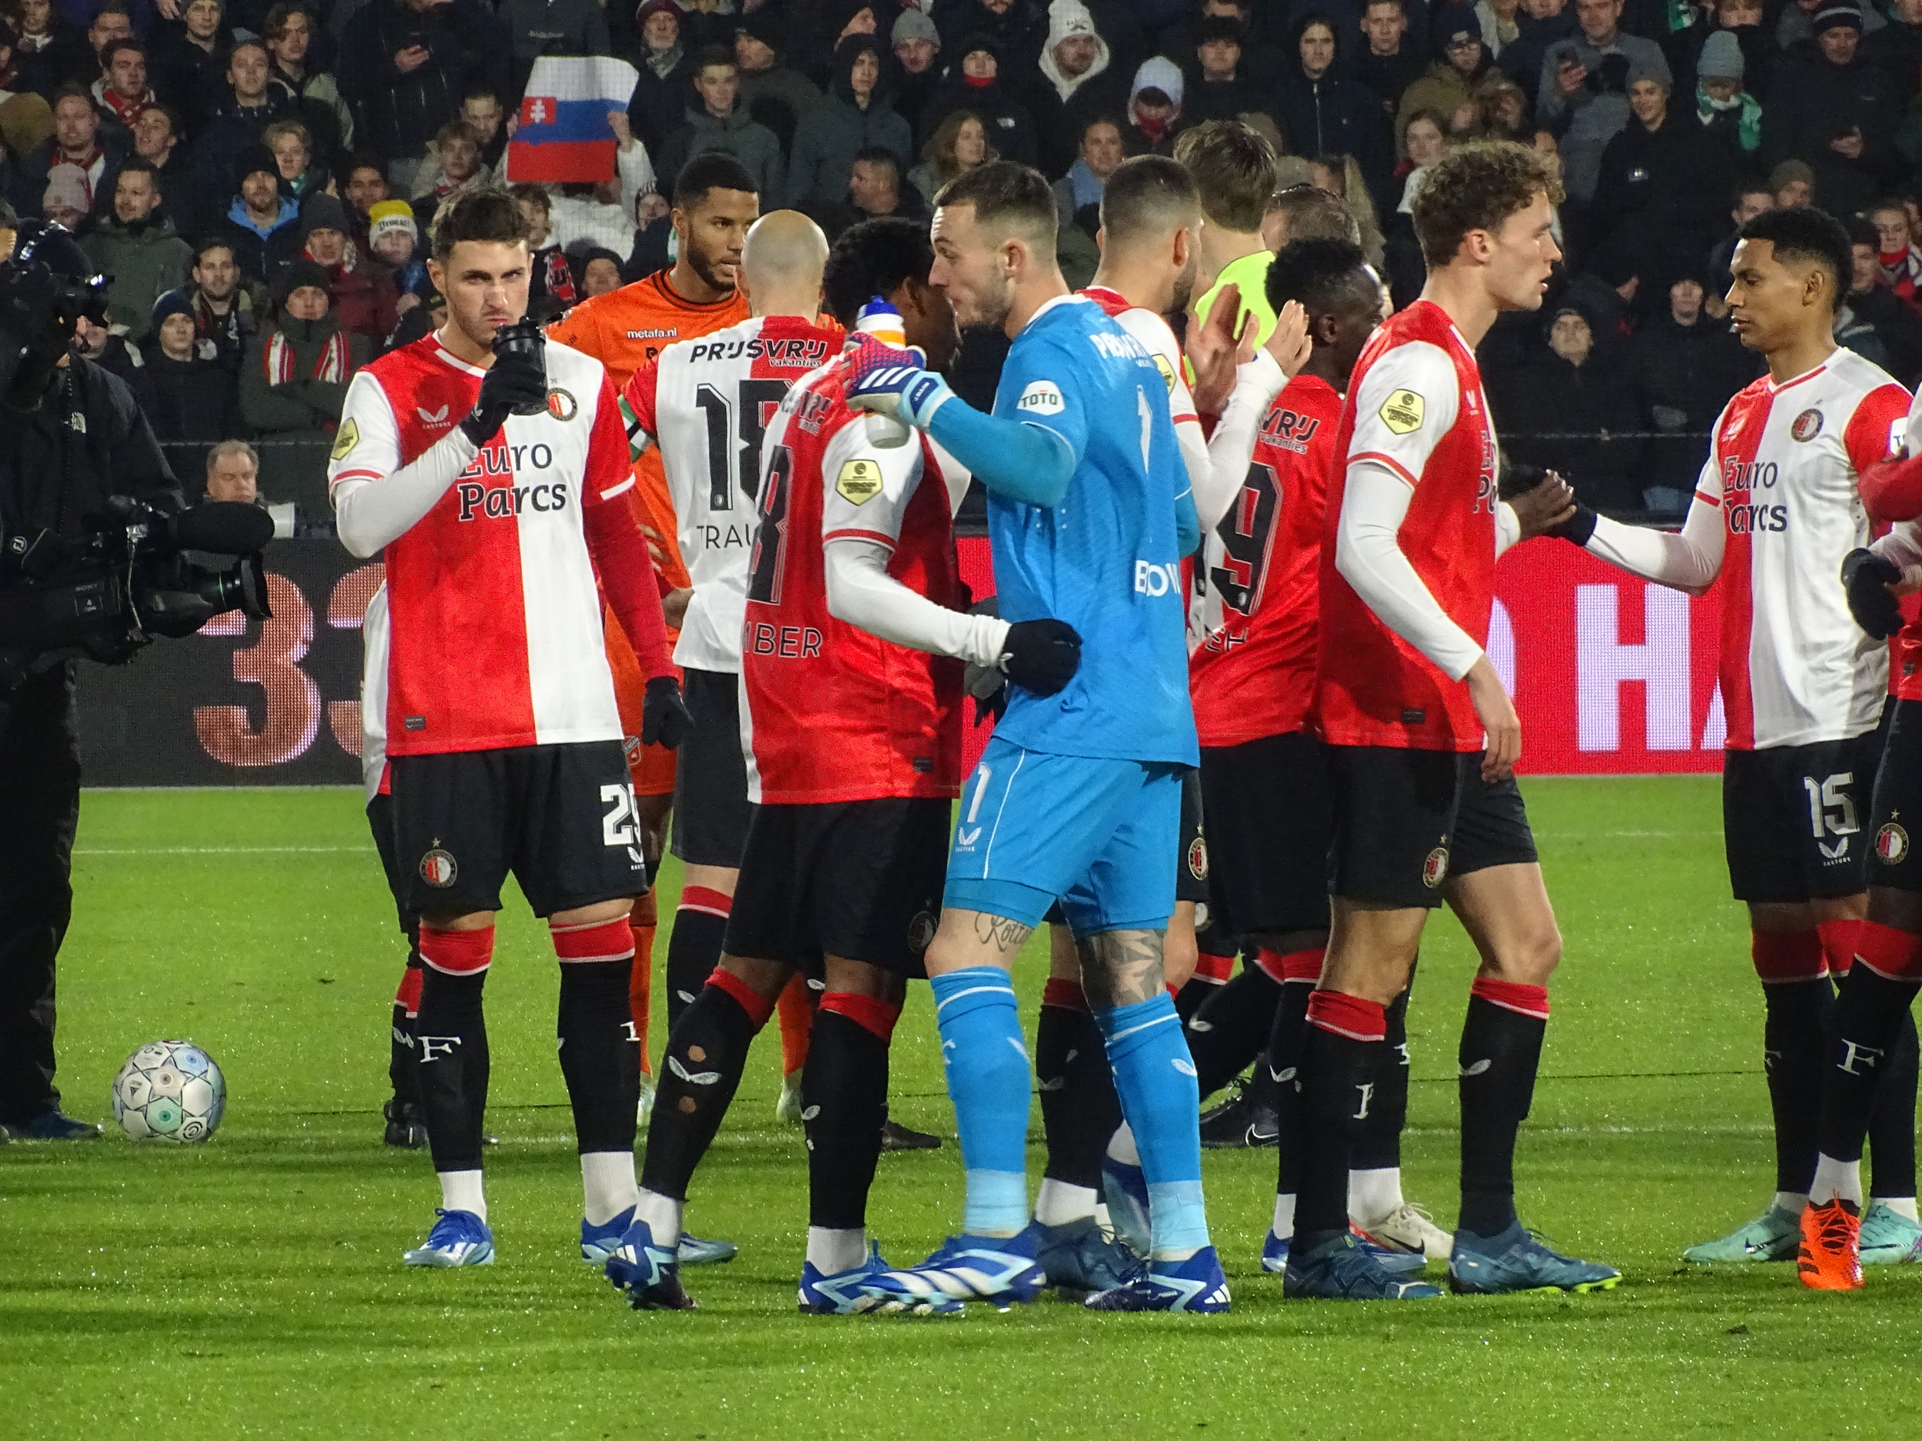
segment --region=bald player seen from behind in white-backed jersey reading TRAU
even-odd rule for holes
[[[686,868],[667,943],[669,1028],[721,959],[748,843],[736,690],[761,438],[788,386],[840,352],[840,329],[815,323],[826,257],[811,219],[792,209],[763,215],[736,271],[752,317],[667,346],[621,394],[634,459],[659,452],[692,582],[675,644],[696,724],[675,765],[671,843]]]

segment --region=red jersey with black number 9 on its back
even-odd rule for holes
[[[1207,638],[1188,661],[1203,745],[1303,730],[1315,709],[1322,511],[1342,396],[1297,375],[1255,436],[1240,494],[1209,536]]]

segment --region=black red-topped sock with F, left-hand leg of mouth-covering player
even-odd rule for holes
[[[480,989],[494,959],[494,928],[421,926],[421,1011],[415,1018],[415,1076],[421,1122],[436,1172],[480,1170],[486,1120],[488,1045]]]

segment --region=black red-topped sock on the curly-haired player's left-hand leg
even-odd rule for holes
[[[1324,989],[1307,999],[1295,1068],[1301,1137],[1295,1237],[1303,1245],[1347,1232],[1349,1157],[1355,1128],[1368,1118],[1374,1097],[1384,1028],[1374,1001]]]

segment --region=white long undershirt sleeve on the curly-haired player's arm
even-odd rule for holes
[[[1336,526],[1334,567],[1382,623],[1461,680],[1482,647],[1455,624],[1401,553],[1401,523],[1415,490],[1380,461],[1353,461]]]

